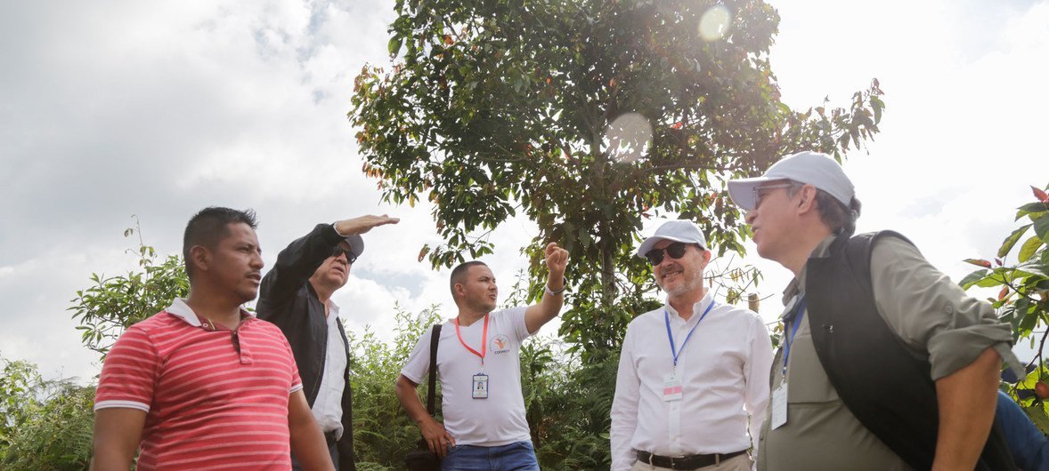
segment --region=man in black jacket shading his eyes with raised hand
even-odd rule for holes
[[[331,295],[349,279],[349,269],[364,251],[361,234],[400,219],[362,216],[318,224],[277,255],[262,278],[259,318],[284,333],[299,366],[302,388],[324,432],[336,469],[356,470],[349,350],[339,307]],[[292,456],[292,465],[299,463]]]

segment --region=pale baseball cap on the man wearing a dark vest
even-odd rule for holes
[[[853,196],[856,195],[856,187],[853,186],[852,180],[845,176],[837,160],[827,154],[807,151],[779,159],[761,177],[730,180],[728,182],[728,196],[732,198],[736,206],[749,211],[754,209],[756,203],[754,201],[754,187],[764,182],[775,180],[793,180],[813,185],[833,196],[845,207],[849,207]]]

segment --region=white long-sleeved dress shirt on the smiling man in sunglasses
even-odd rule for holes
[[[612,403],[613,471],[629,469],[638,450],[682,456],[756,446],[769,401],[772,342],[752,311],[715,304],[703,317],[713,301],[707,291],[688,321],[666,304],[627,327]],[[667,316],[679,351],[677,367]],[[663,385],[671,372],[682,398],[664,401]]]

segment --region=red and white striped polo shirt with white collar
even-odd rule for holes
[[[146,411],[140,470],[288,470],[292,347],[252,316],[200,322],[183,299],[131,326],[106,356],[94,409]]]

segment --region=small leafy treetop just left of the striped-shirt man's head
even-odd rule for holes
[[[174,298],[185,297],[190,289],[181,257],[159,259],[153,247],[143,242],[137,218],[135,227],[124,230],[124,237],[133,234],[138,236],[138,247],[127,251],[138,259],[142,271],[110,277],[91,273],[93,286],[77,291],[68,308],[73,311],[72,318],[80,319],[77,330],[82,331],[81,341],[103,358],[127,328],[160,312]]]

